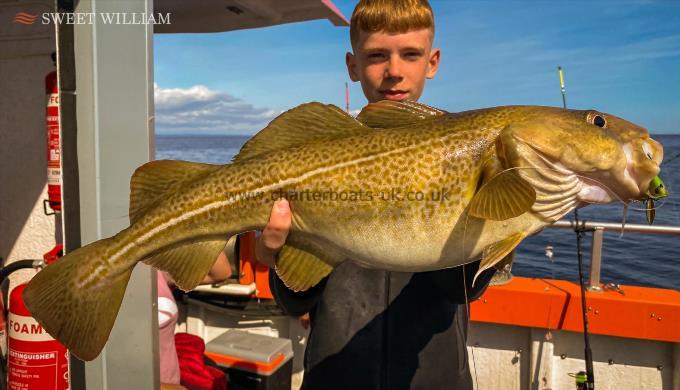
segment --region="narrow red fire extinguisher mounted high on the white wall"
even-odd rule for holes
[[[56,63],[56,54],[52,53]],[[47,95],[47,202],[54,212],[61,211],[61,148],[59,145],[59,87],[57,72],[45,77]],[[47,208],[45,208],[47,214]]]

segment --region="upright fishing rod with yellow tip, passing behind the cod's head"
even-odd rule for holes
[[[560,90],[562,91],[562,107],[567,109],[567,94],[564,88],[564,74],[562,73],[562,67],[558,66],[557,71],[560,75]],[[582,373],[576,374],[576,380],[579,389],[594,390],[595,389],[595,375],[593,370],[593,352],[590,349],[590,336],[588,333],[588,313],[586,305],[586,286],[583,279],[583,252],[581,251],[581,240],[585,236],[587,231],[592,231],[592,229],[586,229],[585,221],[583,224],[579,224],[578,220],[578,209],[574,209],[574,233],[576,233],[576,254],[578,257],[578,279],[581,285],[581,312],[583,313],[583,338],[585,341],[585,360],[586,360],[586,378],[583,381]],[[583,387],[585,385],[585,387]]]

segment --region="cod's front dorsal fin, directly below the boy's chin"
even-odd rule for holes
[[[366,126],[387,129],[410,125],[444,114],[446,114],[445,111],[425,104],[382,100],[364,107],[357,119]]]

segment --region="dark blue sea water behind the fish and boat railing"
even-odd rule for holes
[[[158,135],[156,158],[226,164],[250,137],[236,135]],[[654,135],[664,145],[664,160],[680,154],[680,135]],[[662,165],[661,178],[670,196],[656,202],[655,225],[680,226],[680,158]],[[573,220],[573,213],[564,219]],[[595,205],[579,210],[586,221],[622,222],[623,205]],[[631,204],[626,223],[646,224],[643,203]],[[590,258],[591,235],[582,253]],[[552,257],[546,256],[551,247]],[[519,246],[512,273],[518,276],[577,281],[576,235],[567,229],[547,228]],[[587,272],[587,269],[586,271]],[[606,232],[602,251],[603,283],[653,286],[680,290],[680,236]]]

